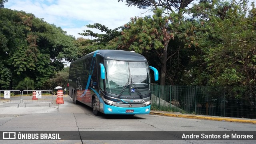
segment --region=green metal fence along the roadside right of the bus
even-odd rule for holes
[[[256,93],[241,87],[152,85],[152,109],[256,119]]]

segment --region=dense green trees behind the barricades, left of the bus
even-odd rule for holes
[[[48,24],[33,14],[0,9],[0,87],[10,89],[28,77],[35,88],[64,67],[64,60],[72,61],[74,37],[60,27]]]

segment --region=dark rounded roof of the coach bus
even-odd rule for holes
[[[122,61],[132,61],[132,62],[147,62],[146,58],[141,54],[136,52],[124,51],[124,50],[97,50],[82,56],[80,59],[84,59],[88,56],[92,56],[94,54],[100,54],[107,60],[122,60]]]

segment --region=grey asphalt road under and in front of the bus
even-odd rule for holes
[[[214,120],[201,120],[189,118],[177,118],[160,115],[102,115],[94,116],[92,108],[84,104],[75,105],[69,96],[64,96],[64,104],[55,103],[56,96],[49,106],[45,103],[0,104],[0,132],[41,132],[41,131],[72,131],[75,140],[0,140],[1,144],[155,144],[155,143],[181,143],[181,144],[204,144],[204,143],[246,143],[255,144],[256,140],[172,140],[170,134],[167,139],[171,140],[139,140],[129,139],[135,132],[150,132],[154,139],[154,134],[158,132],[241,132],[246,134],[256,131],[256,124],[226,122]],[[83,132],[99,132],[104,137],[106,132],[112,132],[108,140],[98,140],[92,137],[88,140],[83,136]],[[126,133],[126,132],[131,133]],[[123,136],[127,134],[127,137]],[[106,134],[107,135],[107,134]],[[142,135],[142,133],[138,133]],[[163,136],[163,135],[162,135]],[[70,136],[72,137],[72,136]],[[125,140],[118,140],[118,138]],[[254,135],[254,138],[256,136]],[[149,137],[147,137],[149,138]],[[64,138],[65,139],[65,138]],[[69,139],[69,138],[66,138]],[[113,139],[113,140],[111,140]],[[158,138],[156,138],[158,139]],[[163,138],[165,139],[165,138]]]

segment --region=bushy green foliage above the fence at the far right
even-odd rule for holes
[[[204,2],[191,9],[201,52],[192,59],[200,62],[191,73],[194,84],[255,88],[256,17],[254,6],[247,13],[247,4]]]

